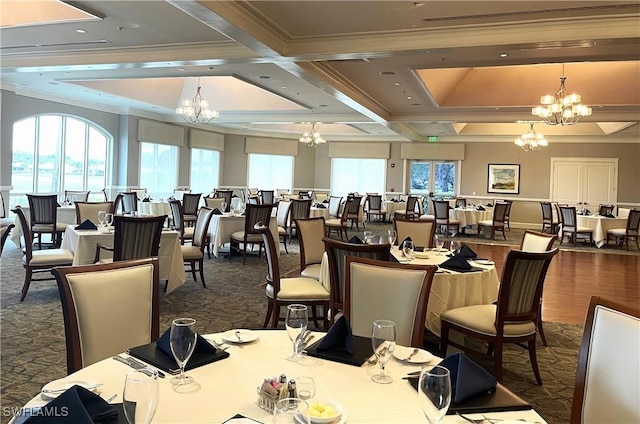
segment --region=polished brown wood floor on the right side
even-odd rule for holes
[[[509,247],[470,246],[479,257],[494,260],[501,275]],[[560,251],[545,279],[542,319],[582,325],[591,296],[640,306],[640,255]]]

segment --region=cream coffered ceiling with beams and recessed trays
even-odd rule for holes
[[[560,76],[593,114],[550,142],[640,142],[637,1],[0,2],[1,87],[223,133],[505,141]]]

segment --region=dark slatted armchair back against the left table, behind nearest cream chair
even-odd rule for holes
[[[94,263],[119,262],[128,259],[141,259],[158,256],[162,227],[167,215],[160,216],[124,216],[113,217],[113,245],[96,245]],[[113,258],[100,258],[103,250],[113,252]]]

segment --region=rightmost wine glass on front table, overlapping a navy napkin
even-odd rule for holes
[[[418,402],[427,421],[438,424],[451,404],[451,378],[449,370],[436,365],[423,367],[418,382]]]

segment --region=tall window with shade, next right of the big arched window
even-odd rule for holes
[[[178,184],[178,146],[140,143],[140,188],[151,198],[173,195]]]

